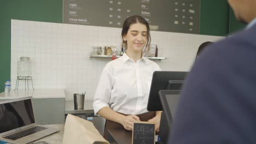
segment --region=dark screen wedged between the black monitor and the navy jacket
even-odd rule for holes
[[[176,108],[179,101],[179,90],[160,90],[159,97],[162,104],[161,124],[159,129],[162,137],[159,143],[167,143],[170,134],[173,118],[175,117]]]

